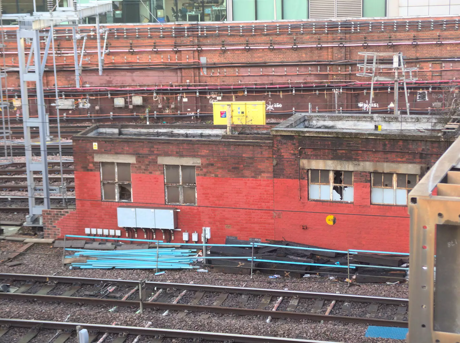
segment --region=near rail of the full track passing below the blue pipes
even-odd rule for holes
[[[85,305],[108,305],[109,307],[138,307],[138,301],[132,300],[117,300],[117,299],[101,299],[101,298],[86,298],[86,297],[62,297],[56,295],[36,295],[23,293],[0,293],[0,299],[6,300],[29,300],[51,303],[76,303]],[[170,311],[189,311],[189,312],[211,312],[219,314],[238,314],[238,315],[259,315],[272,318],[288,318],[296,320],[316,320],[316,321],[340,321],[345,323],[365,323],[378,326],[398,326],[408,327],[408,322],[403,320],[387,320],[377,318],[361,318],[347,317],[341,315],[326,315],[313,313],[271,311],[260,309],[239,309],[233,307],[219,306],[203,306],[203,305],[187,305],[179,303],[150,303],[143,302],[144,309],[154,310],[170,310]]]

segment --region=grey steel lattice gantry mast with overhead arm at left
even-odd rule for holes
[[[70,2],[70,0],[69,0]],[[35,3],[35,1],[34,1]],[[60,192],[62,189],[50,189],[48,180],[48,162],[46,141],[49,139],[48,118],[46,115],[46,106],[43,90],[43,73],[45,71],[46,59],[50,43],[52,41],[52,29],[48,34],[40,33],[40,30],[52,28],[53,25],[66,22],[66,26],[75,26],[85,17],[99,16],[100,13],[112,11],[111,1],[90,1],[87,4],[80,5],[76,0],[73,1],[72,7],[59,7],[58,0],[47,0],[48,12],[36,12],[30,14],[11,14],[2,15],[2,19],[15,19],[19,24],[17,29],[17,53],[19,58],[19,79],[21,87],[21,108],[23,111],[24,126],[24,149],[26,157],[27,186],[29,197],[29,215],[26,216],[26,225],[33,225],[42,210],[50,208],[50,191]],[[69,24],[67,24],[69,23]],[[2,33],[3,34],[3,33]],[[99,35],[100,32],[98,31]],[[40,38],[47,37],[44,51],[41,51]],[[31,42],[30,49],[26,55],[25,42]],[[54,52],[54,51],[53,51]],[[77,52],[74,50],[75,61]],[[98,53],[98,56],[101,54]],[[27,56],[27,57],[26,57]],[[31,65],[33,61],[33,65]],[[77,71],[76,71],[77,72]],[[37,94],[36,105],[38,116],[30,115],[29,95],[27,82],[34,82]],[[80,85],[77,81],[77,87]],[[1,95],[1,94],[0,94]],[[32,140],[30,137],[30,128],[38,127],[40,134],[40,161],[32,160]],[[43,186],[40,186],[40,193],[43,193],[43,205],[37,205],[36,187],[33,174],[35,171],[41,172]],[[41,190],[42,189],[42,190]]]

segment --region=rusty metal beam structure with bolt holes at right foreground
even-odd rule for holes
[[[408,195],[408,343],[460,342],[459,171],[460,138],[457,138]]]

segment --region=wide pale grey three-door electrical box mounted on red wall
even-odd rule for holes
[[[177,228],[175,207],[117,207],[118,226],[121,228],[166,229]]]

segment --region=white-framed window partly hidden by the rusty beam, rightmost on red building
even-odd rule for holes
[[[407,206],[407,194],[419,181],[416,174],[372,173],[373,204]]]

